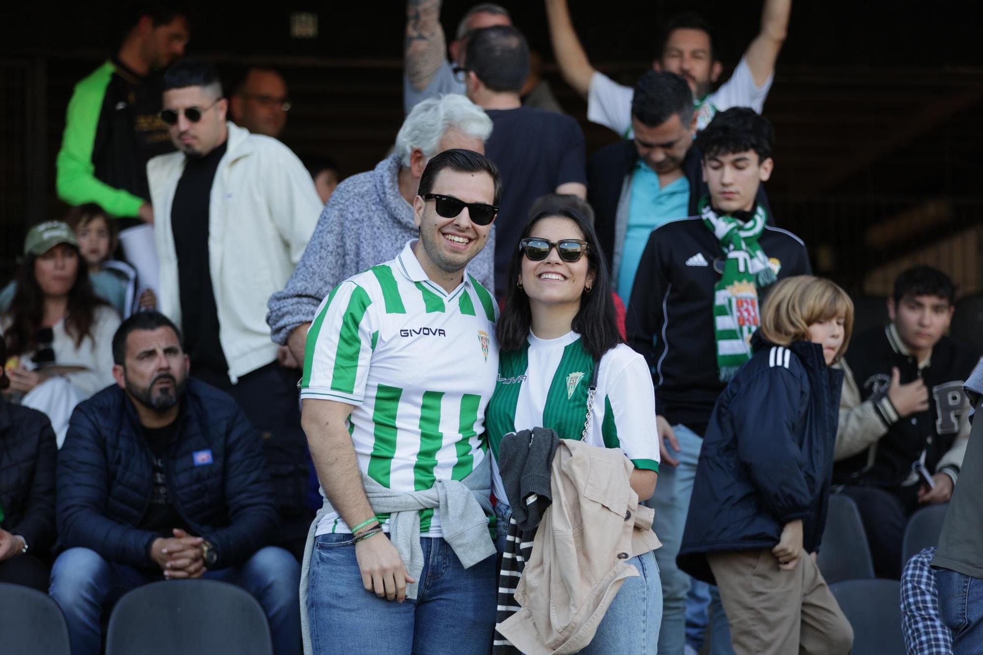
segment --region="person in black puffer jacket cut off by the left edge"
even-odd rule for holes
[[[0,363],[6,360],[0,336]],[[9,384],[0,368],[0,390]],[[0,582],[47,591],[42,559],[55,538],[57,453],[48,417],[0,396]]]

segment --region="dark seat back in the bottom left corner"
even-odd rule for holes
[[[58,603],[36,589],[0,582],[0,652],[71,655]]]

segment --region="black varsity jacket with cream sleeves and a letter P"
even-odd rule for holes
[[[846,352],[846,381],[839,408],[834,482],[895,487],[914,481],[911,465],[925,452],[930,473],[948,469],[955,479],[968,434],[969,403],[962,386],[978,356],[948,336],[920,368],[893,326],[861,334]],[[902,385],[921,378],[929,391],[927,411],[901,418],[888,398],[892,369]]]

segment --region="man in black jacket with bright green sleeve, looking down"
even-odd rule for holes
[[[160,111],[159,71],[184,54],[188,9],[176,0],[130,3],[115,56],[75,87],[56,160],[58,198],[95,203],[120,219],[120,244],[142,286],[156,289],[146,162],[174,149]]]

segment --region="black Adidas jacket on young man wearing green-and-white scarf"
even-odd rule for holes
[[[791,232],[766,226],[758,244],[780,279],[812,271],[805,244]],[[714,330],[714,285],[723,260],[702,218],[665,223],[649,236],[628,304],[628,344],[652,368],[657,413],[698,435],[726,386],[718,375]]]

